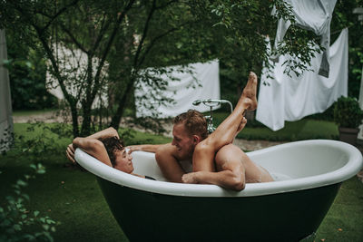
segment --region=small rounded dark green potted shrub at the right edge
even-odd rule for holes
[[[334,121],[345,128],[358,128],[362,123],[363,111],[357,99],[340,97],[334,106]]]

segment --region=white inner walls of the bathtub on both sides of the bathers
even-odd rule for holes
[[[324,144],[281,146],[247,153],[250,159],[268,169],[275,180],[299,179],[317,176],[344,167],[348,152],[331,149]],[[137,174],[166,180],[162,176],[153,153],[133,152],[133,167]]]

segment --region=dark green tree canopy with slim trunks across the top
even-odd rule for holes
[[[356,1],[344,2],[337,4],[338,23],[356,23],[347,14]],[[270,14],[274,5],[276,16]],[[165,66],[219,58],[222,91],[223,87],[235,90],[250,70],[260,73],[268,58],[265,38],[273,40],[276,20],[294,21],[282,0],[1,0],[0,9],[0,27],[47,60],[71,110],[74,136],[90,133],[95,121],[92,105],[101,93],[107,93],[109,100],[101,103],[111,116],[106,125],[117,128],[138,82],[162,90],[166,83],[142,71],[146,68],[165,73]],[[299,66],[288,70],[309,69],[314,50],[308,43],[319,43],[319,38],[293,26],[285,39],[278,51],[301,58]],[[64,57],[62,50],[71,54]]]

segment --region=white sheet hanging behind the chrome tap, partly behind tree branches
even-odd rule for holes
[[[180,66],[172,67],[179,70]],[[175,117],[183,111],[195,109],[198,111],[209,111],[210,108],[200,104],[193,106],[192,102],[199,99],[220,99],[220,75],[219,62],[214,60],[208,63],[191,63],[186,67],[192,70],[188,72],[173,71],[172,76],[180,81],[171,80],[166,74],[161,78],[168,82],[166,90],[162,95],[174,100],[173,103],[158,104],[152,96],[157,96],[156,92],[146,84],[135,87],[136,117],[152,116],[152,111],[147,107],[151,105],[159,112],[159,118]],[[195,86],[195,79],[199,80],[200,85]],[[194,86],[194,88],[193,88]],[[217,109],[219,107],[214,107]]]

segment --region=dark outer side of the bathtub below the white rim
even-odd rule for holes
[[[315,189],[240,197],[152,193],[98,178],[130,241],[299,241],[313,234],[341,182]]]

